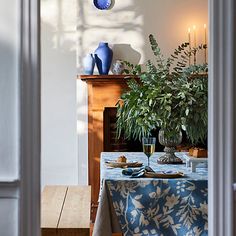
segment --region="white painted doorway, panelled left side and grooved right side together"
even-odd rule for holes
[[[209,5],[209,235],[232,236],[235,3]],[[39,236],[39,1],[1,1],[0,13],[0,234]]]

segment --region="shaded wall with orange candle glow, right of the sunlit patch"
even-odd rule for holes
[[[146,59],[154,60],[148,36],[153,34],[162,53],[169,57],[173,50],[188,41],[188,28],[196,25],[197,43],[203,43],[204,24],[208,25],[207,0],[137,0],[136,14],[143,15],[143,53]],[[203,58],[199,58],[199,63]]]

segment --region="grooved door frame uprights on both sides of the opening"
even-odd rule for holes
[[[40,235],[40,1],[22,1],[21,236]],[[209,0],[209,235],[233,235],[235,4]],[[214,40],[213,40],[214,39]]]

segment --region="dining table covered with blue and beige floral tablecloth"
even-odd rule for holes
[[[147,165],[142,152],[102,152],[100,195],[94,223],[94,236],[112,233],[155,236],[208,235],[208,171],[199,165],[195,172],[185,164],[186,153],[177,152],[183,164],[158,164],[164,153],[150,157],[150,167],[158,173],[183,173],[179,178],[147,178],[124,175],[123,168],[107,163],[120,156],[127,163]],[[132,168],[140,169],[143,167]]]

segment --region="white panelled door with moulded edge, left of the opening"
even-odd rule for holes
[[[40,235],[37,2],[0,1],[1,236]]]

